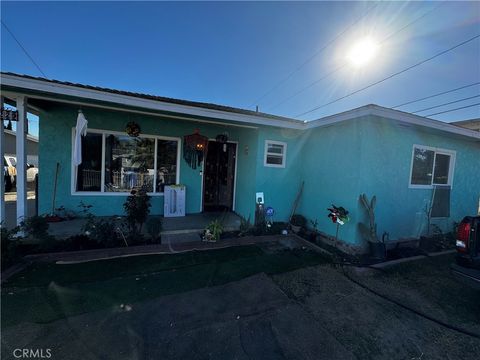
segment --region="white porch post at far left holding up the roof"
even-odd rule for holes
[[[17,225],[27,217],[27,149],[25,131],[27,129],[27,99],[17,97]]]

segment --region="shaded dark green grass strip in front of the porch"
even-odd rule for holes
[[[173,255],[146,255],[57,265],[36,263],[2,286],[2,328],[131,304],[325,263],[319,254],[240,246]]]

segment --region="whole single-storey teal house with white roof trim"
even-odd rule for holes
[[[151,212],[162,214],[164,186],[180,183],[187,213],[225,209],[253,218],[256,193],[263,192],[274,220],[287,221],[304,182],[297,213],[335,235],[327,207],[343,206],[350,221],[338,237],[353,250],[364,243],[362,193],[376,195],[377,232],[390,240],[418,237],[430,221],[448,231],[478,211],[480,133],[470,129],[376,105],[303,122],[11,73],[1,80],[2,95],[16,101],[20,113],[40,116],[40,213],[51,209],[57,163],[56,203],[91,204],[97,215],[121,214],[130,188],[139,184],[150,190]],[[88,133],[76,168],[79,110]],[[127,124],[140,136],[128,136]],[[196,130],[208,138],[200,144],[208,149],[203,161],[184,142]],[[444,214],[432,219],[427,214],[437,185]]]

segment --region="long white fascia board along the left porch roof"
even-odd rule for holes
[[[42,91],[50,94],[73,96],[83,99],[117,103],[126,106],[140,107],[156,111],[175,112],[193,116],[202,116],[214,119],[230,120],[241,123],[252,123],[283,128],[305,128],[303,122],[293,119],[269,119],[262,116],[239,114],[224,110],[207,109],[191,105],[173,104],[168,102],[162,102],[160,100],[144,99],[124,94],[114,94],[102,90],[86,89],[75,85],[52,83],[50,81],[41,79],[28,79],[20,75],[15,76],[11,74],[1,74],[0,80],[2,85],[12,86],[19,89]]]

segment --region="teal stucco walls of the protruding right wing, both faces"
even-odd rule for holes
[[[377,233],[390,240],[418,238],[427,232],[425,207],[432,189],[410,188],[413,145],[456,152],[451,192],[451,216],[433,219],[443,232],[466,215],[476,215],[480,197],[480,142],[421,127],[406,127],[378,117],[363,117],[308,133],[302,149],[305,191],[299,213],[318,219],[319,230],[335,235],[328,218],[330,204],[350,211],[350,222],[340,227],[339,238],[365,245],[358,231],[367,222],[359,196],[377,197]]]

